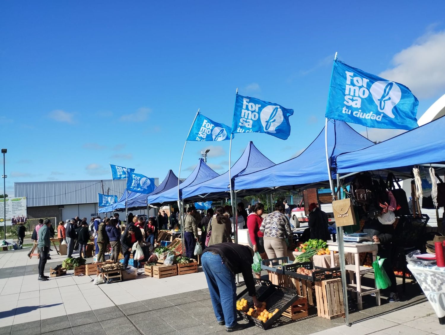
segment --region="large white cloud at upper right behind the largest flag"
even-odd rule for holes
[[[413,45],[396,53],[394,67],[379,74],[397,81],[418,98],[430,98],[445,90],[445,31],[429,32]]]

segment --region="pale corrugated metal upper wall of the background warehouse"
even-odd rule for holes
[[[154,179],[158,186],[159,178]],[[116,194],[120,198],[125,186],[125,179],[20,182],[14,183],[14,191],[16,197],[26,197],[27,206],[33,207],[97,203],[98,193]]]

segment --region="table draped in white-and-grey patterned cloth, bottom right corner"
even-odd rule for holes
[[[445,324],[445,267],[408,264],[429,303],[433,306],[440,324]]]

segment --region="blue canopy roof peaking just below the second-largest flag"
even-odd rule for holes
[[[258,170],[263,170],[275,165],[270,159],[264,156],[252,143],[249,142],[241,157],[231,168],[232,179],[236,176],[249,174]],[[197,185],[188,186],[182,190],[182,198],[187,200],[206,200],[226,198],[229,191],[229,172],[218,177],[207,180]]]

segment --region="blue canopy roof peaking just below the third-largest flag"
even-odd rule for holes
[[[180,192],[186,187],[194,186],[205,182],[206,180],[217,177],[218,174],[210,169],[209,165],[207,165],[202,158],[199,158],[198,165],[194,168],[193,172],[190,176],[187,177],[185,181],[181,183],[179,186]],[[176,184],[175,186],[178,186]],[[164,192],[158,194],[150,194],[147,197],[147,202],[150,205],[160,205],[166,203],[175,203],[178,201],[178,188],[172,187],[170,190],[166,190]]]

